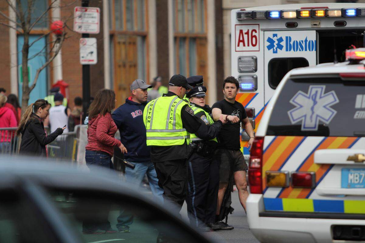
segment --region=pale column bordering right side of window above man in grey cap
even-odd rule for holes
[[[156,26],[156,1],[148,1],[148,52],[149,52],[149,73],[150,80],[157,74],[157,26]]]

